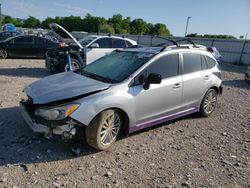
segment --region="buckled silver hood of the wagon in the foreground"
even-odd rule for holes
[[[74,72],[65,72],[40,79],[26,87],[25,92],[34,104],[46,104],[102,91],[110,85]]]

